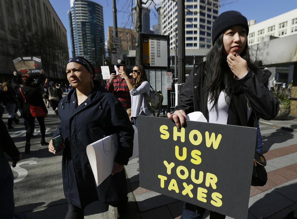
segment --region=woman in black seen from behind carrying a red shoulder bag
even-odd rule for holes
[[[32,86],[34,83],[33,77],[31,75],[25,74],[22,76],[22,80],[23,86],[19,88],[17,95],[19,99],[22,100],[22,116],[28,125],[28,129],[26,131],[25,153],[30,153],[30,140],[34,130],[35,118],[30,113],[29,104],[34,107],[41,107],[45,112],[45,116],[36,117],[40,125],[40,144],[43,146],[48,145],[48,143],[45,141],[46,126],[44,124],[44,118],[49,114],[43,102],[39,88],[34,88]]]

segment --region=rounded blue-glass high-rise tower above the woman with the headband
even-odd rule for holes
[[[94,67],[104,65],[103,7],[93,1],[71,0],[68,11],[72,56],[87,58]]]

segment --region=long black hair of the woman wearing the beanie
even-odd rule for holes
[[[207,85],[205,87],[209,100],[213,102],[213,106],[219,100],[222,90],[225,91],[225,101],[228,103],[227,97],[231,97],[234,91],[234,85],[237,84],[234,74],[227,63],[227,56],[224,53],[223,33],[216,39],[213,47],[206,54],[206,62],[204,64],[204,73],[207,77]],[[256,72],[257,68],[250,60],[248,42],[240,56],[247,61],[248,67]]]

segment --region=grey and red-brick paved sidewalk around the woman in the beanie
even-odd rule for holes
[[[297,119],[294,116],[286,120],[261,119],[259,124],[268,181],[263,187],[251,186],[247,218],[284,218],[297,209]],[[134,211],[133,218],[180,218],[183,202],[139,187],[137,167],[137,159],[125,166],[133,194],[130,198],[137,203],[137,208],[129,209]],[[203,218],[209,218],[208,212]]]

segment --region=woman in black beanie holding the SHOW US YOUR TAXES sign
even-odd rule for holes
[[[252,64],[247,35],[248,21],[240,12],[226,11],[216,18],[206,61],[194,64],[175,112],[167,114],[178,128],[193,111],[202,112],[207,122],[254,128],[259,118],[270,120],[277,115],[278,101],[267,88],[271,72]],[[257,143],[251,147],[256,149]],[[204,211],[185,202],[181,219],[202,218]],[[210,218],[225,215],[211,211]]]

